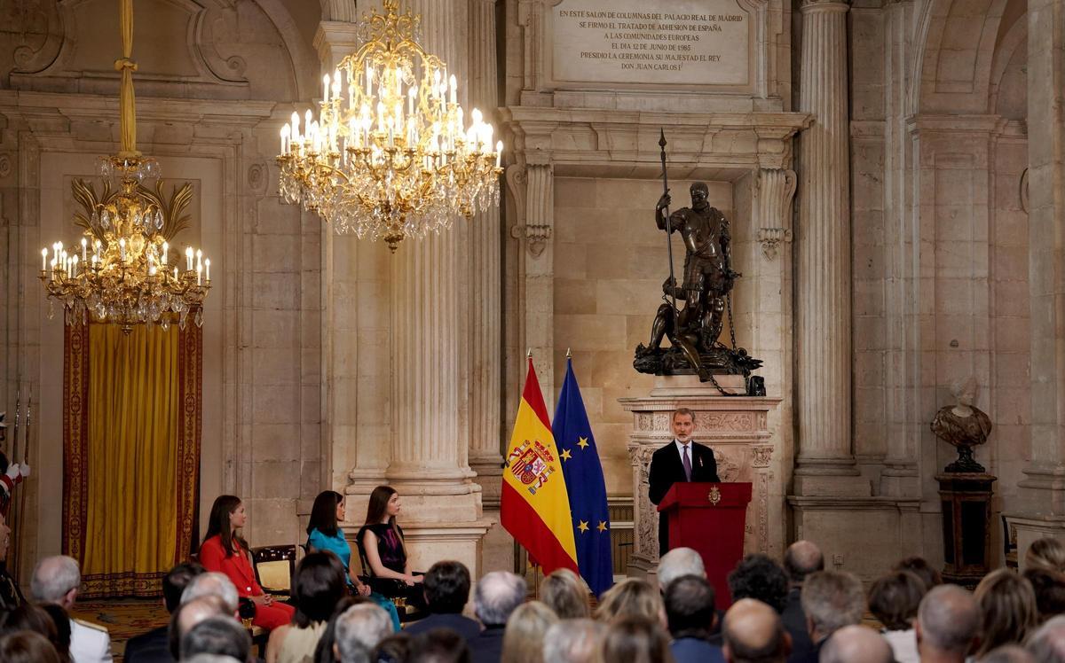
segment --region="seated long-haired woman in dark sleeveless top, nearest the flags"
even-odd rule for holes
[[[366,509],[366,524],[355,541],[359,545],[363,568],[371,574],[370,586],[386,596],[405,598],[409,604],[424,610],[423,576],[411,571],[403,528],[396,524],[399,509],[399,494],[395,488],[387,485],[374,488]],[[393,586],[388,587],[388,583],[379,582],[381,580],[398,582],[392,582]]]

